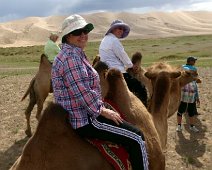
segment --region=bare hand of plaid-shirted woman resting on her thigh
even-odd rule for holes
[[[100,114],[107,119],[113,120],[117,125],[119,125],[119,123],[123,123],[121,116],[113,110],[102,108]]]

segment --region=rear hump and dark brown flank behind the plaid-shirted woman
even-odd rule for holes
[[[68,123],[68,112],[50,103],[10,170],[113,170],[102,154]]]

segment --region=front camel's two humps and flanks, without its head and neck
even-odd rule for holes
[[[151,114],[128,90],[120,71],[107,70],[107,66],[99,67],[98,71],[103,97],[116,103],[126,118],[142,129],[147,145],[149,169],[165,169],[165,155]],[[44,111],[35,133],[25,145],[22,155],[11,168],[28,169],[110,170],[113,167],[95,147],[74,133],[67,124],[67,113],[64,109],[59,105],[50,104]]]

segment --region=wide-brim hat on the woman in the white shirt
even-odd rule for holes
[[[121,38],[125,38],[128,36],[129,32],[130,32],[130,27],[129,25],[127,25],[126,23],[124,23],[122,20],[114,20],[111,25],[109,30],[106,32],[105,35],[111,33],[111,31],[117,27],[123,27],[124,28],[124,32],[121,36]]]

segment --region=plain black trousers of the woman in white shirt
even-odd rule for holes
[[[127,83],[129,90],[134,93],[142,103],[147,107],[147,90],[146,87],[138,81],[136,78],[132,77],[129,73],[123,73],[124,79]]]

